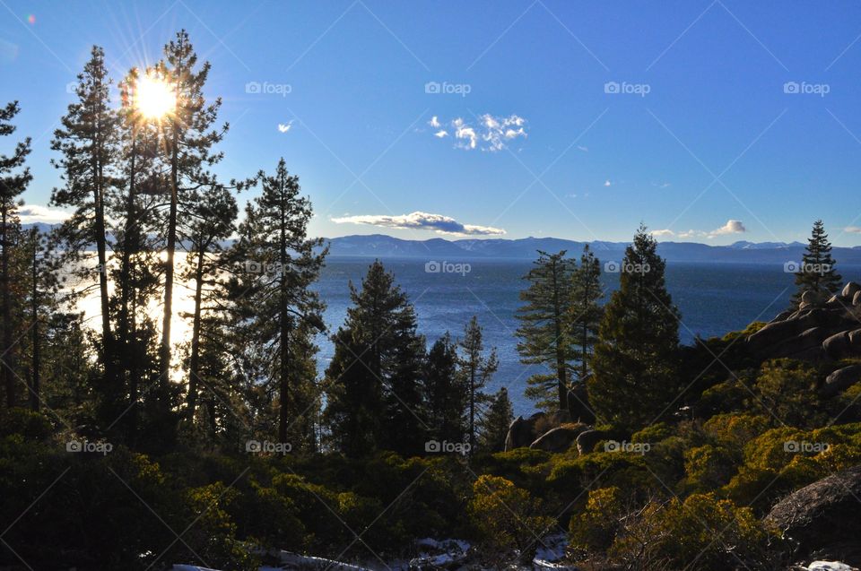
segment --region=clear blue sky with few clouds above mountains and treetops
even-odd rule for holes
[[[51,133],[91,45],[119,77],[180,28],[230,122],[217,172],[283,156],[316,235],[626,240],[644,221],[726,244],[822,218],[861,244],[857,2],[0,0],[27,203],[57,185]]]

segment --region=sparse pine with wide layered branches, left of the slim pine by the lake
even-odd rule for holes
[[[541,365],[551,373],[529,377],[526,396],[547,409],[568,410],[568,392],[577,359],[567,325],[570,319],[572,275],[575,262],[558,254],[538,252],[520,299],[526,305],[517,310],[520,326],[517,343],[520,360],[526,365]]]

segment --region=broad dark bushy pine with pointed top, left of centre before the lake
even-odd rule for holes
[[[370,265],[361,290],[351,282],[350,297],[352,307],[333,335],[335,355],[326,369],[324,418],[333,445],[351,457],[387,446],[419,454],[422,411],[413,407],[423,340],[415,310],[379,261]],[[402,402],[404,395],[409,399]]]

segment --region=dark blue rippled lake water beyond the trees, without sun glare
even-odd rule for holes
[[[328,304],[324,319],[331,331],[344,323],[350,305],[348,282],[352,280],[359,286],[371,262],[371,258],[357,257],[326,260],[317,289]],[[457,260],[470,264],[469,273],[427,273],[426,261],[415,258],[386,258],[383,262],[413,302],[419,331],[429,343],[447,331],[461,336],[469,319],[478,316],[485,346],[496,347],[500,357],[499,371],[488,384],[488,392],[506,386],[515,414],[534,410],[523,390],[526,379],[540,369],[520,363],[515,336],[515,312],[521,305],[518,294],[531,261]],[[858,281],[861,267],[840,266],[839,272],[845,281]],[[793,276],[783,272],[782,264],[671,263],[667,264],[665,277],[667,289],[682,313],[679,335],[685,343],[691,343],[698,334],[706,338],[721,336],[744,329],[752,321],[768,321],[787,307],[795,290]],[[619,274],[604,273],[602,281],[609,297],[609,291],[618,287]],[[322,370],[332,358],[334,347],[326,339],[319,341]]]

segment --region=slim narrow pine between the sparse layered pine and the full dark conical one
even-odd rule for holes
[[[573,275],[571,307],[568,319],[571,344],[578,351],[578,379],[585,383],[590,373],[590,361],[597,341],[598,327],[604,310],[599,301],[604,297],[601,286],[601,262],[588,245],[583,247],[580,264]]]

